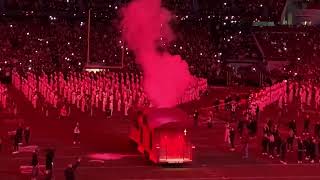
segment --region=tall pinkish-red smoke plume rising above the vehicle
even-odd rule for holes
[[[159,40],[173,40],[171,14],[161,0],[132,0],[121,11],[122,36],[144,73],[144,89],[156,107],[173,107],[192,75],[180,56],[159,51]]]

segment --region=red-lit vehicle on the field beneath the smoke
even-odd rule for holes
[[[129,137],[145,158],[156,164],[188,163],[194,146],[188,129],[192,121],[178,108],[150,108],[134,112]]]

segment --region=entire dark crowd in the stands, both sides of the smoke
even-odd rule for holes
[[[118,11],[127,1],[93,0],[89,4],[72,0],[68,3],[39,1],[32,6],[16,2],[8,1],[5,7],[10,5],[12,8],[34,9],[34,16],[26,15],[19,20],[2,17],[2,67],[15,66],[19,72],[24,73],[32,71],[41,74],[44,71],[52,74],[55,71],[81,71],[89,59],[95,65],[123,67],[139,73],[134,54],[121,39],[121,30],[117,26]],[[176,15],[173,23],[176,39],[166,48],[172,54],[181,55],[193,74],[207,78],[211,84],[226,84],[229,79],[232,82],[237,79],[248,80],[250,76],[258,74],[228,63],[249,61],[259,64],[263,59],[305,62],[318,57],[320,42],[317,40],[317,28],[252,27],[253,21],[270,20],[277,23],[285,4],[283,0],[166,0],[162,3]],[[37,16],[36,7],[38,11],[40,7],[46,7],[74,14],[71,17]],[[89,51],[88,7],[92,8]]]

